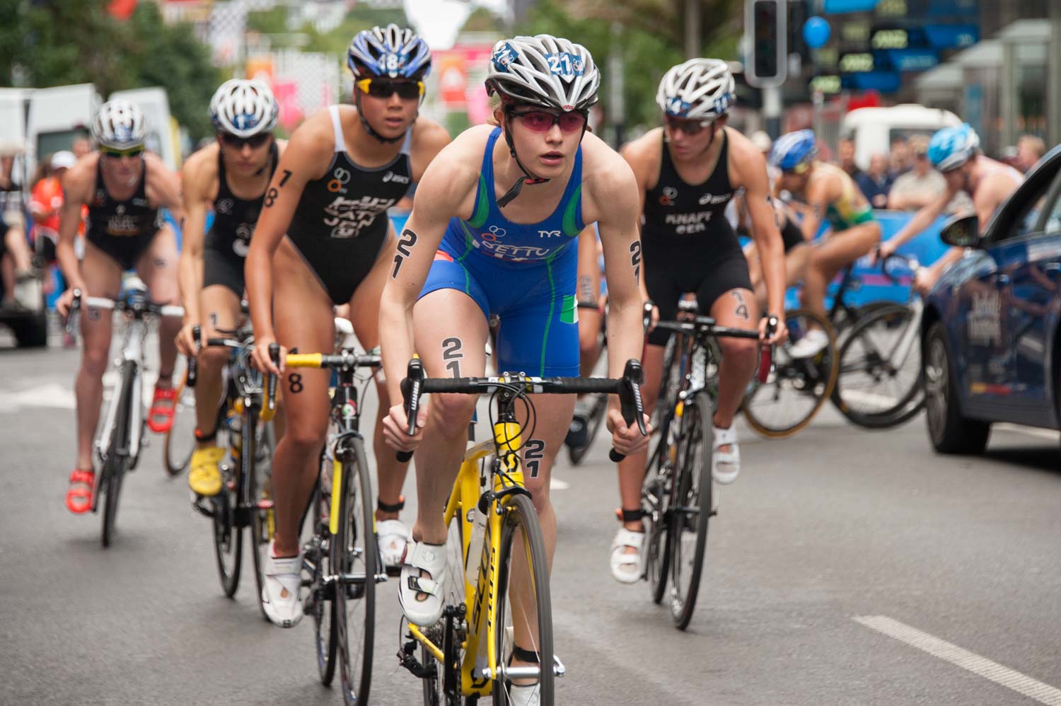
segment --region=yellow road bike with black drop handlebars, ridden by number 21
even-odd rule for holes
[[[553,649],[545,545],[524,486],[524,472],[537,475],[543,448],[536,440],[524,441],[517,411],[523,407],[527,435],[533,436],[534,404],[528,395],[618,394],[624,417],[629,424],[638,420],[645,433],[641,381],[637,360],[627,363],[621,379],[522,374],[427,379],[420,362],[410,362],[402,392],[411,420],[417,418],[421,394],[489,394],[497,402],[490,419],[492,440],[468,449],[446,503],[448,579],[442,618],[431,626],[410,624],[402,631],[398,658],[423,679],[424,704],[470,705],[491,695],[493,704],[508,704],[515,681],[537,682],[538,703],[552,706],[554,679],[563,675],[564,667]],[[622,457],[613,449],[612,458]],[[514,649],[524,666],[510,665]]]

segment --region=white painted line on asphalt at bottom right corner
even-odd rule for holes
[[[854,616],[852,619],[867,627],[872,627],[889,637],[906,642],[910,647],[923,650],[934,657],[957,665],[973,674],[1033,699],[1040,704],[1061,706],[1061,689],[1056,689],[1008,667],[1003,667],[987,657],[951,644],[916,627],[910,627],[887,616]]]

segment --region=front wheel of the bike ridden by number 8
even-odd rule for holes
[[[341,578],[335,587],[334,621],[338,668],[347,706],[368,703],[376,632],[376,567],[379,546],[373,529],[372,487],[360,437],[347,442],[353,461],[343,464],[344,493],[338,534],[332,537],[332,565]],[[336,482],[333,478],[332,482]]]

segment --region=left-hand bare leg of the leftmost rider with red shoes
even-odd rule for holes
[[[81,276],[85,280],[87,290],[83,292],[84,296],[116,298],[121,289],[121,266],[109,255],[89,242],[85,243]],[[82,470],[92,468],[92,437],[100,421],[103,374],[107,369],[110,351],[112,318],[109,309],[86,306],[81,312],[81,368],[74,381],[74,393],[77,399],[77,468]]]

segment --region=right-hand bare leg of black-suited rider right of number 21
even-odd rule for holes
[[[715,299],[711,305],[711,316],[719,326],[759,329],[759,304],[755,295],[746,289],[732,289]],[[718,337],[718,347],[721,348],[723,360],[718,364],[718,400],[713,424],[719,429],[729,429],[755,372],[759,342],[721,335]],[[719,450],[728,452],[730,449],[727,445]]]

